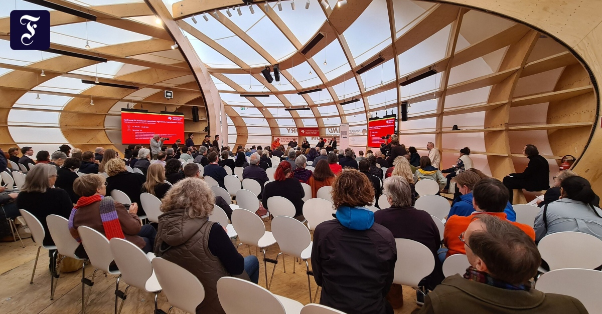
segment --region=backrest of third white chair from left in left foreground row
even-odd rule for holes
[[[109,270],[109,265],[113,262],[113,253],[111,253],[107,237],[86,226],[79,226],[77,232],[92,266],[101,271],[114,274],[114,271]]]

